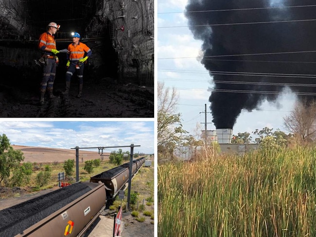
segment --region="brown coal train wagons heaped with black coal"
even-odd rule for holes
[[[145,157],[133,160],[132,176]],[[53,192],[0,210],[0,237],[82,237],[125,186],[129,162]]]

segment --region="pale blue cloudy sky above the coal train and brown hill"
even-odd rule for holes
[[[153,121],[43,121],[0,120],[0,134],[11,145],[70,149],[140,145],[134,153],[154,153]],[[106,149],[104,152],[120,148]],[[130,151],[127,147],[123,151]],[[88,149],[93,152],[93,149]],[[95,152],[98,152],[96,149]]]

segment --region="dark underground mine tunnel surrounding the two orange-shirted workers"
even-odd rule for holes
[[[52,21],[57,50],[78,32],[92,55],[77,99],[76,75],[62,95],[67,59],[58,53],[55,98],[39,106],[38,38]],[[0,117],[154,117],[154,0],[0,0],[0,70]]]

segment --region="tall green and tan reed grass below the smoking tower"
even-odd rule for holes
[[[315,237],[316,150],[158,167],[159,237]]]

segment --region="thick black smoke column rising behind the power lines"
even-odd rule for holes
[[[188,1],[186,17],[189,20],[190,30],[194,38],[203,41],[204,56],[201,63],[209,70],[214,81],[209,102],[211,102],[212,122],[216,128],[233,128],[242,109],[252,111],[265,99],[269,102],[276,102],[278,94],[269,92],[283,91],[286,86],[284,84],[293,84],[288,87],[294,92],[315,92],[316,87],[298,84],[314,85],[316,79],[297,76],[284,77],[284,74],[316,74],[316,64],[314,63],[316,53],[284,53],[316,50],[316,21],[293,22],[293,20],[315,19],[316,7],[288,7],[301,5],[315,5],[315,1]],[[252,10],[245,10],[249,8]],[[224,9],[244,10],[210,11]],[[292,22],[244,24],[289,20]],[[232,23],[242,24],[231,25]],[[215,24],[226,25],[215,26]],[[235,56],[219,57],[218,55]],[[247,72],[250,75],[232,75],[229,72]],[[253,76],[254,73],[264,74]],[[274,75],[281,73],[283,76],[270,76],[271,73]],[[269,85],[263,83],[269,83]],[[215,90],[252,92],[232,93]],[[253,91],[265,93],[254,93]],[[302,100],[304,97],[301,95],[298,96],[298,99]],[[307,96],[306,99],[314,98]]]

